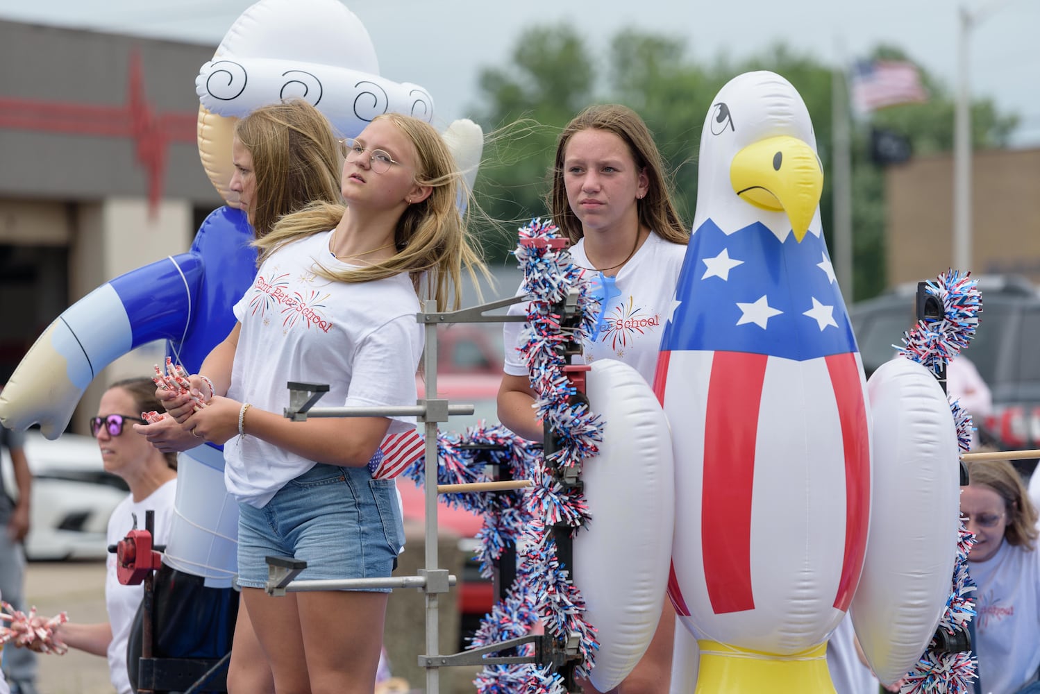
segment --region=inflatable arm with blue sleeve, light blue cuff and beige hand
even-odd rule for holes
[[[0,392],[0,422],[16,430],[40,424],[57,438],[95,376],[155,340],[170,341],[170,351],[197,371],[234,326],[231,306],[256,274],[252,238],[244,214],[220,208],[189,252],[132,270],[67,309]]]

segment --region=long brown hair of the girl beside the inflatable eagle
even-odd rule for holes
[[[564,182],[564,157],[567,144],[575,133],[582,130],[603,130],[614,133],[628,146],[636,169],[644,171],[649,185],[643,199],[635,202],[639,207],[640,225],[652,230],[666,241],[685,245],[690,242],[690,228],[682,223],[679,213],[672,203],[672,186],[665,175],[665,164],[660,152],[654,143],[653,135],[639,113],[621,104],[597,104],[589,106],[574,116],[556,142],[556,159],[552,168],[551,187],[546,196],[546,205],[552,211],[552,219],[567,234],[571,243],[577,243],[584,236],[581,221],[571,210],[567,201],[567,185]]]

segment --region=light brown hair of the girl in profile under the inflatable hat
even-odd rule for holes
[[[315,201],[341,199],[336,136],[328,118],[306,101],[261,106],[235,124],[235,137],[253,157],[251,222],[258,239],[290,212]]]

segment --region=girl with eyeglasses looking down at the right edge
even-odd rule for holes
[[[967,463],[961,515],[976,542],[976,643],[984,694],[1040,692],[1040,552],[1037,509],[1007,460]]]

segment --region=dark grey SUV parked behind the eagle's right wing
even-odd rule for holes
[[[1040,293],[1023,277],[978,277],[983,310],[974,340],[964,351],[993,396],[993,412],[982,425],[1004,450],[1040,448]],[[894,353],[915,320],[916,284],[853,305],[853,329],[867,376]],[[1019,461],[1029,474],[1036,460]]]

